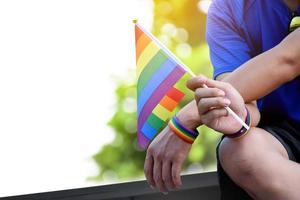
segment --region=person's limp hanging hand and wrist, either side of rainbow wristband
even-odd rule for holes
[[[193,101],[177,114],[181,123],[190,129],[200,125],[196,108]],[[163,193],[178,189],[182,185],[181,167],[191,146],[174,134],[168,126],[159,133],[149,145],[145,158],[144,172],[150,187],[157,187]]]

